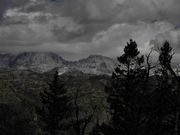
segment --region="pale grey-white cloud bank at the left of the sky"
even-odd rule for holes
[[[60,37],[63,38],[63,33],[65,32],[68,35],[68,33],[75,33],[82,29],[82,26],[74,22],[71,18],[54,17],[51,14],[44,14],[42,12],[24,13],[13,9],[8,10],[5,15],[7,18],[10,17],[11,23],[23,18],[29,21],[0,26],[1,46],[36,46],[45,42],[59,40]],[[46,16],[50,19],[44,22],[38,22],[36,19],[41,16]]]

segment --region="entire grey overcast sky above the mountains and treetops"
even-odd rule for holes
[[[179,56],[180,0],[0,0],[1,52],[116,57],[130,38],[143,53],[168,40]]]

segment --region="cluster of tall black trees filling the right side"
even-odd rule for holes
[[[93,135],[180,134],[180,80],[171,65],[174,53],[168,42],[158,51],[159,64],[152,65],[152,51],[141,56],[135,41],[127,43],[107,90],[111,119],[97,123]]]

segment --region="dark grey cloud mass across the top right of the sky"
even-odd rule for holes
[[[66,41],[71,41],[71,37],[91,40],[95,33],[116,23],[167,21],[179,25],[179,0],[65,0],[53,3],[46,0],[43,4],[44,12],[73,18],[83,26],[83,30],[70,34],[69,39],[65,36]]]

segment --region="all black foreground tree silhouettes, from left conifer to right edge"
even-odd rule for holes
[[[159,65],[155,66],[150,62],[151,52],[147,56],[140,55],[135,41],[127,43],[124,54],[118,57],[119,65],[112,74],[111,87],[106,89],[110,120],[100,123],[97,119],[90,135],[180,134],[180,82],[171,66],[172,48],[168,42],[164,43],[159,49]],[[58,73],[50,84],[50,91],[41,95],[44,131],[58,135],[71,128],[71,134],[85,135],[96,106],[82,117],[78,91],[74,102],[70,103],[64,86],[57,80]]]

